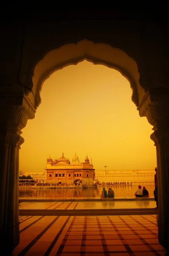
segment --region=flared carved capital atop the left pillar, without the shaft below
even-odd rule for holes
[[[21,137],[22,129],[26,126],[28,119],[33,119],[36,110],[29,102],[25,94],[17,93],[2,93],[0,95],[0,139],[4,140],[5,144],[12,143],[14,146],[19,146],[24,142]],[[2,138],[3,137],[3,138]]]

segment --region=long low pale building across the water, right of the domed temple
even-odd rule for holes
[[[138,183],[154,184],[154,169],[140,170],[96,170],[94,184],[120,185]]]

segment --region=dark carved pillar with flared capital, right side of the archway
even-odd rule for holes
[[[158,168],[158,239],[169,251],[169,90],[147,92],[138,109],[153,125],[151,139],[156,146]]]

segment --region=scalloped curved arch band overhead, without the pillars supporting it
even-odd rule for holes
[[[85,39],[77,44],[65,44],[58,49],[52,50],[37,63],[32,77],[32,90],[37,101],[35,107],[37,108],[36,105],[39,106],[41,103],[40,92],[42,85],[52,73],[68,65],[76,65],[84,60],[118,70],[130,81],[132,101],[138,106],[145,91],[139,82],[140,74],[138,73],[136,62],[121,49],[113,48],[108,44],[94,44],[92,41]],[[31,93],[28,98],[34,102]]]

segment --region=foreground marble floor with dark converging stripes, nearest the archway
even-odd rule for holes
[[[164,256],[166,251],[158,242],[157,218],[20,216],[20,244],[13,256]]]

